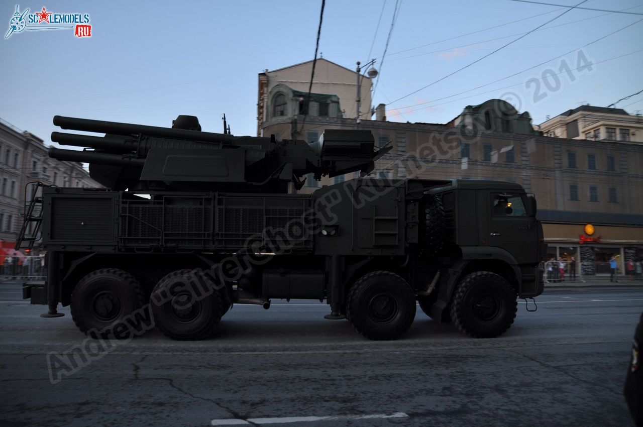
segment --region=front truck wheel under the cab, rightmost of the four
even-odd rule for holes
[[[464,277],[451,301],[451,319],[473,338],[495,338],[516,318],[516,293],[502,276],[476,271]]]

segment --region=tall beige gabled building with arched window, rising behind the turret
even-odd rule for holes
[[[367,70],[363,70],[367,71]],[[293,66],[259,73],[257,101],[257,135],[262,136],[262,123],[290,122],[309,117],[357,118],[358,74],[326,59],[318,59],[311,82],[312,60]],[[360,118],[370,120],[372,81],[360,78]],[[310,105],[306,105],[311,87]],[[341,100],[341,105],[340,105]],[[308,120],[308,118],[306,119]],[[300,123],[301,126],[301,123]],[[298,129],[293,127],[294,131]],[[291,138],[290,134],[276,135]],[[298,136],[305,139],[305,134]]]

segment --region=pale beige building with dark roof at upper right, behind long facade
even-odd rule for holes
[[[643,116],[620,108],[581,105],[539,125],[546,136],[569,140],[643,142]]]

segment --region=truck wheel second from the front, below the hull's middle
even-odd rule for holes
[[[362,276],[350,289],[347,318],[371,340],[395,340],[415,318],[415,295],[406,280],[390,271]]]

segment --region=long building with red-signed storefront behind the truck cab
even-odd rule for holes
[[[579,110],[565,117],[579,120],[580,114]],[[290,138],[303,118],[267,117],[260,123],[262,134],[278,138]],[[348,118],[308,116],[305,126],[297,130],[303,135],[300,139],[309,141],[325,129],[372,131],[376,145],[394,147],[377,161],[370,174],[375,177],[520,183],[538,200],[548,259],[562,258],[565,270],[576,279],[608,276],[613,255],[619,258],[620,273],[625,273],[629,261],[643,258],[643,144],[637,140],[637,116],[619,118],[627,120],[620,123],[628,130],[629,140],[582,138],[582,131],[590,129],[588,122],[574,138],[549,136],[551,131],[534,129],[529,113],[520,113],[502,100],[469,105],[444,125],[386,122],[384,114],[377,117],[383,120],[358,124]],[[614,123],[594,125],[608,129]],[[571,127],[565,125],[565,130]],[[357,176],[323,177],[321,181],[308,176],[300,192]],[[592,224],[591,235],[587,224]]]

